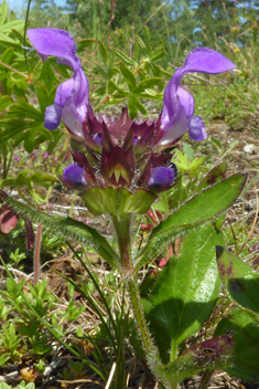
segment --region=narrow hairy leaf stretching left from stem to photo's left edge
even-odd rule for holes
[[[2,190],[0,190],[0,199],[1,201],[6,201],[23,218],[43,224],[55,234],[61,234],[68,240],[88,244],[89,248],[98,252],[107,263],[120,270],[118,254],[111,249],[106,239],[89,225],[71,218],[52,217],[41,211],[36,211],[12,199]]]

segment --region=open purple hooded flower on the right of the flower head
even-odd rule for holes
[[[235,64],[220,53],[211,49],[196,49],[186,57],[183,67],[179,67],[164,92],[161,123],[162,137],[158,146],[166,146],[181,138],[188,128],[190,137],[203,140],[207,137],[203,119],[194,116],[194,98],[180,84],[187,73],[218,74],[233,70]]]

